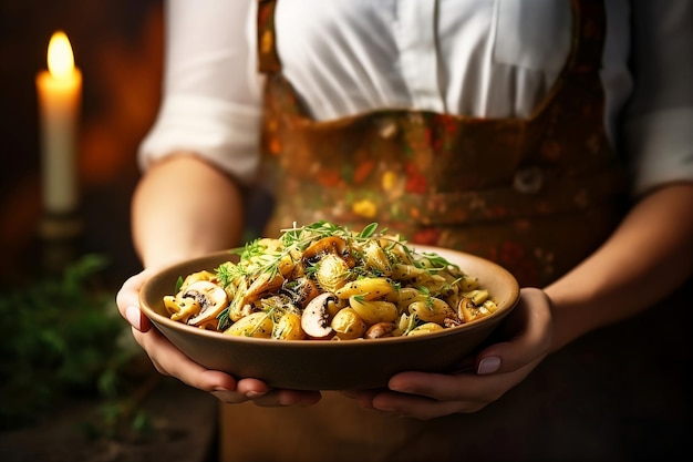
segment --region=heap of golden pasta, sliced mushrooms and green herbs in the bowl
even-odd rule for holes
[[[172,320],[229,336],[368,340],[452,329],[498,308],[474,274],[375,223],[316,222],[231,253],[237,261],[179,276],[163,297]]]

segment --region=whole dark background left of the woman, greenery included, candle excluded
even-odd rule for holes
[[[40,233],[35,76],[58,30],[82,72],[81,232],[64,239]],[[158,109],[162,61],[163,0],[0,0],[3,461],[215,460],[216,400],[158,374],[115,309],[116,290],[141,269],[130,199],[137,146]],[[87,254],[106,265],[83,290],[64,275]]]

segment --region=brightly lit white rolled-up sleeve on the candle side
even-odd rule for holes
[[[261,115],[254,10],[252,0],[166,1],[164,94],[139,146],[141,168],[193,152],[242,183],[252,179]]]

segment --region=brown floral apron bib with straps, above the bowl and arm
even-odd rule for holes
[[[528,119],[382,110],[312,120],[280,73],[275,1],[261,1],[267,73],[266,235],[328,219],[377,222],[407,242],[492,259],[523,286],[545,286],[591,254],[620,218],[624,182],[603,127],[600,2],[575,3],[569,59]]]

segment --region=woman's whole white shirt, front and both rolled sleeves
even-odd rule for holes
[[[693,181],[693,2],[606,3],[604,123],[633,193]],[[249,183],[256,2],[168,0],[165,12],[164,95],[141,165],[193,151]],[[384,107],[526,117],[559,74],[571,27],[568,0],[280,0],[276,13],[282,72],[323,121]]]

